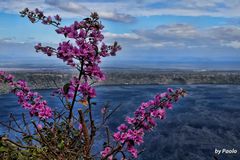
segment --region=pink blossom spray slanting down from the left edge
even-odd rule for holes
[[[6,83],[11,91],[18,97],[18,103],[24,109],[29,110],[30,115],[38,116],[40,119],[47,119],[52,116],[52,110],[37,92],[32,92],[23,80],[13,81],[13,76],[0,71],[0,83]]]

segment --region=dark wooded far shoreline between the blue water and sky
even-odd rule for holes
[[[33,89],[62,87],[76,74],[70,69],[8,69],[5,71],[15,75],[16,79],[26,80]],[[234,70],[104,69],[104,72],[106,80],[96,85],[240,84],[240,71]]]

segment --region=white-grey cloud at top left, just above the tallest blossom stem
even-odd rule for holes
[[[95,6],[95,7],[91,7]],[[97,11],[102,19],[130,23],[135,18],[129,14],[121,13],[112,9],[103,8],[103,4],[98,3],[80,3],[75,1],[63,0],[8,0],[0,1],[0,11],[17,14],[24,8],[39,8],[44,10],[45,14],[60,14],[64,18],[76,18],[89,16],[91,12]]]

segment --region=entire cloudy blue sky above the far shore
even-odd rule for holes
[[[25,7],[59,13],[63,25],[97,11],[106,41],[117,40],[123,48],[105,66],[194,68],[202,63],[203,68],[234,64],[240,69],[240,0],[0,0],[0,67],[58,63],[36,54],[33,46],[55,46],[63,37],[53,27],[21,18],[18,12]]]

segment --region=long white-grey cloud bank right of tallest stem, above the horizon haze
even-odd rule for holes
[[[123,48],[240,49],[240,29],[234,26],[200,29],[189,24],[171,24],[131,33],[107,32],[104,35],[108,41],[119,41]]]

